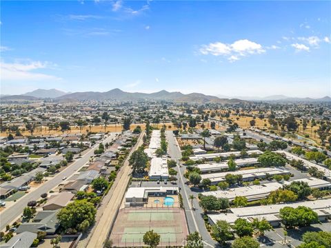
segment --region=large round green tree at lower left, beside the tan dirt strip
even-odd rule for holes
[[[64,229],[78,229],[84,220],[88,220],[89,225],[94,222],[97,210],[92,203],[85,201],[74,201],[63,207],[57,214],[60,224]]]

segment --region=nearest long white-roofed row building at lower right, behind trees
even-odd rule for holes
[[[208,219],[211,225],[217,223],[217,220],[225,220],[230,224],[234,224],[238,218],[244,218],[249,222],[252,222],[254,218],[265,218],[269,223],[277,227],[281,223],[279,218],[279,211],[283,207],[310,207],[319,216],[319,220],[323,221],[331,216],[331,203],[330,199],[324,200],[310,200],[305,202],[296,203],[283,203],[276,205],[254,206],[254,207],[236,207],[231,208],[231,213],[226,214],[208,214]]]

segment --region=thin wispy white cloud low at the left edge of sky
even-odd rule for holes
[[[1,61],[1,79],[8,81],[42,81],[59,80],[57,76],[33,72],[46,68],[53,68],[55,65],[50,62],[28,61],[27,63],[5,63]],[[32,71],[32,72],[31,72]]]

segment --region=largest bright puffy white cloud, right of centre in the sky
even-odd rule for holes
[[[241,56],[265,52],[262,45],[249,41],[248,39],[234,41],[232,44],[221,42],[210,43],[209,45],[203,45],[199,51],[204,55],[226,56],[230,62],[241,59]]]

